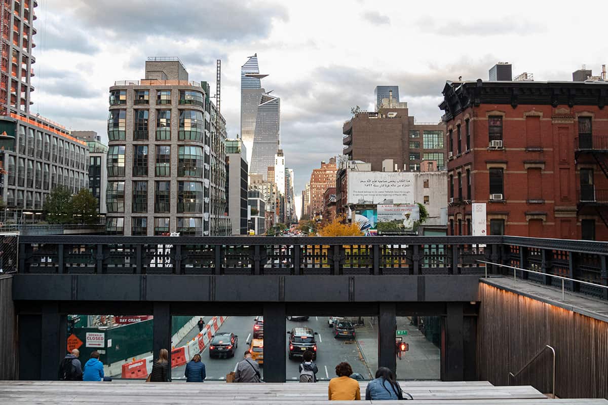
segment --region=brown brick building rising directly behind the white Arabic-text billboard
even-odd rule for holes
[[[415,123],[407,103],[383,104],[378,112],[358,112],[344,123],[343,153],[350,161],[371,163],[373,171],[382,171],[385,159],[393,161],[390,171],[420,171],[423,161],[437,161],[443,168],[445,128],[443,123]]]

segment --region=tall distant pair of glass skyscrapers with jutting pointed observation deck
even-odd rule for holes
[[[274,155],[280,143],[280,107],[278,97],[261,87],[257,54],[241,66],[241,138],[247,150],[249,173],[268,179],[268,167],[274,167]]]

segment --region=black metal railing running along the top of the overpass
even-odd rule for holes
[[[525,237],[19,238],[21,273],[201,275],[507,274],[510,265],[607,285],[608,243]],[[487,265],[480,261],[496,263]],[[519,272],[522,273],[522,272]],[[551,285],[551,277],[519,274]],[[557,285],[556,285],[557,286]],[[570,282],[571,291],[605,297]]]

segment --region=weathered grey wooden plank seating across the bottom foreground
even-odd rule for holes
[[[112,381],[83,383],[66,381],[0,381],[0,404],[302,404],[327,403],[327,384],[268,383],[226,384],[207,382],[144,383]],[[606,400],[549,400],[531,386],[495,387],[487,381],[442,382],[404,381],[400,383],[414,401],[410,404],[608,404]],[[359,382],[365,396],[367,382]],[[396,401],[341,401],[341,403],[382,403]]]

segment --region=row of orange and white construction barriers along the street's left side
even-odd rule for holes
[[[209,345],[213,335],[219,330],[227,317],[214,316],[196,336],[184,346],[171,350],[171,368],[186,364],[194,355],[201,353]],[[122,378],[146,378],[152,372],[152,356],[122,365]]]

